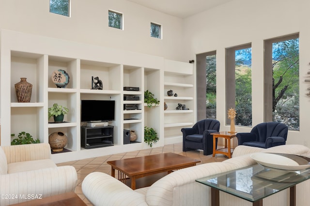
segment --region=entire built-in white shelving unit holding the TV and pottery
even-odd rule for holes
[[[11,143],[11,133],[25,131],[41,142],[48,142],[52,132],[64,132],[66,149],[71,152],[52,154],[54,162],[67,162],[126,151],[149,148],[144,143],[144,126],[158,133],[153,147],[182,142],[180,128],[195,122],[195,78],[193,65],[161,57],[129,51],[63,41],[55,38],[0,31],[0,118],[1,145]],[[70,81],[66,88],[57,88],[51,76],[65,70]],[[92,76],[103,82],[103,90],[93,90]],[[17,103],[14,84],[26,77],[32,86],[30,103]],[[139,91],[124,91],[139,87]],[[167,97],[167,89],[178,97]],[[151,108],[144,103],[144,91],[151,91],[160,101]],[[124,96],[139,96],[138,101]],[[81,100],[114,100],[114,146],[85,149],[81,147]],[[169,105],[164,111],[164,102]],[[70,111],[63,123],[48,119],[47,109],[58,103]],[[184,103],[189,110],[175,110]],[[124,110],[124,104],[137,104],[137,110]],[[96,109],[104,108],[94,108]],[[180,118],[182,117],[182,118]],[[134,130],[137,143],[124,144],[124,130]]]

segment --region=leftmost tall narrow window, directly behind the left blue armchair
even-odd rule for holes
[[[197,119],[217,118],[217,55],[216,51],[198,54]]]

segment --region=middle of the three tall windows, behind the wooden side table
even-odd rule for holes
[[[226,110],[235,108],[235,124],[252,126],[251,44],[226,49]],[[227,119],[230,124],[230,119]]]

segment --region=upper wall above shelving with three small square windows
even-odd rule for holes
[[[181,19],[128,0],[71,1],[66,17],[49,13],[49,0],[0,0],[0,29],[182,60]],[[108,26],[108,10],[123,13],[124,30]],[[151,22],[162,25],[162,40],[150,37]]]

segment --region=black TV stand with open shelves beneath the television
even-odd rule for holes
[[[114,126],[81,126],[81,147],[85,149],[113,146]]]

